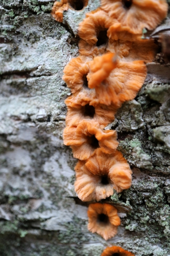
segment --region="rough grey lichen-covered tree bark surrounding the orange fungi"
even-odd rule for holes
[[[87,230],[88,204],[73,186],[76,160],[62,142],[70,95],[63,67],[78,55],[79,22],[100,1],[69,9],[64,24],[51,17],[53,1],[0,2],[0,255],[100,256],[109,245],[170,255],[170,66],[148,64],[142,90],[109,125],[133,185],[105,200],[121,217],[106,242]]]

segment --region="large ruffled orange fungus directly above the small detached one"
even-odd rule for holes
[[[128,189],[132,171],[121,152],[105,154],[97,149],[87,161],[78,161],[75,166],[75,192],[82,201],[100,201]]]

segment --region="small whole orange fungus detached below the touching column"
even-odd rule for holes
[[[88,230],[96,232],[105,240],[114,237],[121,224],[117,210],[110,204],[90,204],[87,211]]]

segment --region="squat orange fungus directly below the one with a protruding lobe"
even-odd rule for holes
[[[86,100],[82,100],[79,103],[77,97],[78,95],[72,95],[65,100],[68,108],[65,120],[67,126],[78,126],[83,119],[93,119],[99,123],[101,128],[105,128],[105,126],[114,120],[117,109],[113,105],[91,105],[90,101]]]

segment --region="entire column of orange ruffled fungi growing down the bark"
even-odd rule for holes
[[[63,11],[74,2],[55,2],[53,17],[62,21]],[[87,13],[79,24],[79,57],[71,59],[63,71],[72,92],[65,100],[68,114],[63,139],[79,159],[75,192],[82,201],[100,201],[131,185],[130,166],[116,149],[117,133],[105,127],[123,102],[133,100],[142,87],[146,62],[153,61],[157,50],[154,40],[142,39],[142,31],[156,28],[167,11],[165,0],[101,0],[101,7]],[[107,240],[116,235],[119,225],[114,206],[89,205],[88,230]],[[133,256],[121,247],[102,253],[111,255]]]

